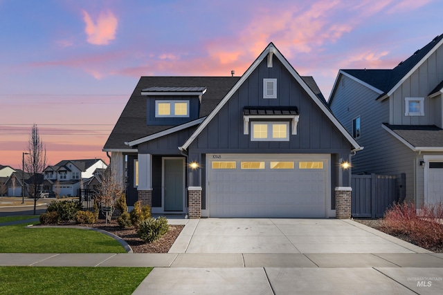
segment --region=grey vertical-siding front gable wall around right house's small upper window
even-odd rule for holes
[[[393,125],[433,125],[442,126],[442,112],[435,112],[436,102],[429,98],[443,80],[443,46],[424,61],[405,81],[392,93],[390,99],[389,124]],[[424,97],[424,116],[405,116],[405,97]],[[440,107],[441,110],[441,107]]]

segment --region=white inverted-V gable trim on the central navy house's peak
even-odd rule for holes
[[[314,93],[314,91],[312,91],[312,89],[305,82],[305,80],[302,79],[302,77],[300,77],[300,75],[298,75],[297,71],[291,66],[291,64],[289,64],[289,61],[287,61],[287,59],[280,53],[280,51],[271,42],[268,46],[266,46],[266,48],[259,55],[259,57],[257,57],[257,59],[255,59],[253,64],[251,64],[251,66],[249,66],[248,70],[246,70],[246,72],[242,75],[242,77],[238,80],[238,82],[233,86],[233,88],[231,88],[230,91],[224,96],[224,98],[216,106],[216,108],[206,117],[204,122],[202,122],[199,125],[199,127],[195,130],[195,132],[192,133],[192,135],[188,138],[188,140],[186,140],[186,142],[183,144],[183,146],[179,147],[179,149],[181,151],[185,151],[186,149],[188,149],[190,144],[192,144],[192,142],[197,138],[197,136],[201,133],[201,131],[203,131],[206,126],[208,126],[209,122],[211,120],[213,120],[215,115],[217,115],[217,113],[221,110],[221,108],[223,108],[223,106],[228,102],[230,97],[232,97],[234,95],[234,93],[239,89],[239,87],[242,86],[242,84],[246,81],[246,79],[248,79],[248,77],[251,75],[251,73],[253,73],[255,68],[257,68],[257,66],[259,64],[261,64],[261,62],[268,55],[275,55],[275,57],[277,57],[280,60],[280,62],[283,64],[283,66],[289,71],[289,73],[291,73],[292,77],[294,79],[296,79],[298,84],[300,84],[300,86],[307,92],[309,97],[311,97],[311,99],[317,104],[317,106],[320,107],[320,109],[323,111],[323,113],[325,113],[325,115],[327,115],[329,120],[332,121],[332,123],[337,127],[337,129],[350,142],[350,144],[352,144],[352,146],[354,146],[355,151],[359,151],[360,149],[363,149],[363,147],[360,146],[358,144],[358,142],[356,142],[356,140],[354,140],[354,138],[350,135],[350,133],[348,133],[346,131],[346,129],[343,127],[343,125],[340,122],[338,122],[336,117],[334,115],[332,115],[332,112],[329,109],[329,107],[327,106],[327,104],[325,104],[324,99],[322,100]]]

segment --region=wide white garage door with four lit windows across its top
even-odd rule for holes
[[[210,217],[327,217],[330,155],[207,155]]]

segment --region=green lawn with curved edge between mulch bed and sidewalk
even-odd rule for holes
[[[0,227],[0,253],[125,253],[114,238],[97,231],[25,225]]]

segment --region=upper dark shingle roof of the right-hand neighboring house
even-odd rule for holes
[[[405,61],[401,61],[398,66],[392,70],[342,70],[349,75],[360,79],[361,81],[374,86],[375,88],[383,91],[383,96],[388,93],[397,83],[409,73],[412,68],[427,55],[438,42],[443,39],[443,34],[435,37],[431,42],[426,44],[423,48],[415,51],[413,55],[408,57]]]

